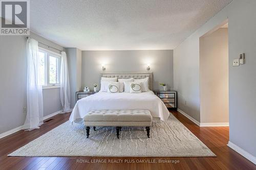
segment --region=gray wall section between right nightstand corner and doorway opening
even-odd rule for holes
[[[178,108],[200,122],[199,37],[190,36],[174,50],[174,89]]]

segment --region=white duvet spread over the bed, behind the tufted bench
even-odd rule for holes
[[[169,111],[153,91],[142,93],[108,93],[98,92],[77,101],[70,121],[78,123],[91,110],[101,109],[144,109],[149,110],[153,117],[167,120]]]

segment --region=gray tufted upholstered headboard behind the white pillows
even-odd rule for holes
[[[153,72],[101,72],[100,77],[117,77],[118,79],[144,79],[148,77],[148,87],[153,90]]]

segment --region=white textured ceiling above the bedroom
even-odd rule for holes
[[[174,49],[231,0],[31,0],[32,32],[80,50]]]

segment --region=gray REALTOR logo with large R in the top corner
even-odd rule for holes
[[[29,35],[29,1],[1,0],[0,35]]]

